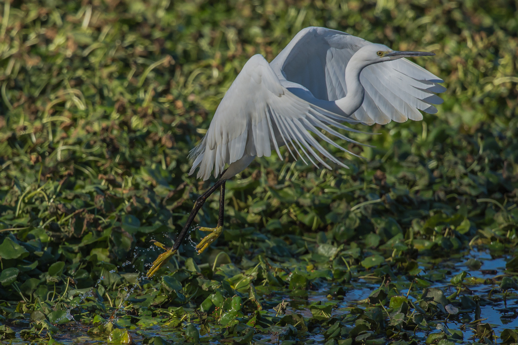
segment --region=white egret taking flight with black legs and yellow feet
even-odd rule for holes
[[[179,248],[207,197],[221,187],[218,226],[196,246],[207,249],[223,229],[225,181],[246,168],[255,157],[270,156],[286,145],[301,160],[332,169],[324,159],[347,167],[314,137],[349,152],[324,135],[355,142],[335,128],[353,131],[343,123],[386,124],[394,120],[419,121],[419,110],[435,113],[446,89],[440,78],[404,57],[434,53],[394,51],[343,32],[323,27],[301,30],[268,63],[260,54],[248,60],[214,113],[205,137],[191,151],[190,174],[207,180],[212,170],[219,180],[200,196],[172,248],[148,272],[152,276]],[[312,135],[312,134],[313,135]],[[349,152],[351,153],[351,152]],[[351,153],[353,154],[353,153]],[[296,159],[296,157],[295,157]],[[225,166],[228,168],[224,170]]]

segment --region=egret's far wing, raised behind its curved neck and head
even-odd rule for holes
[[[271,62],[277,77],[308,89],[315,98],[337,100],[347,93],[345,69],[353,54],[368,41],[323,27],[301,30]],[[366,124],[422,120],[419,112],[436,113],[446,89],[426,69],[399,59],[370,65],[362,71],[362,106],[352,119]]]

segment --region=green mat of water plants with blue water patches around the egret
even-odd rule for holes
[[[518,342],[516,6],[4,1],[0,342]],[[354,125],[362,158],[323,143],[349,169],[256,159],[218,241],[197,255],[193,226],[147,278],[214,183],[188,153],[224,92],[311,25],[435,52],[438,113]]]

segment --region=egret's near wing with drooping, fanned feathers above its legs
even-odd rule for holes
[[[299,155],[298,150],[313,164],[318,161],[330,169],[320,153],[330,161],[346,167],[308,132],[349,152],[323,135],[319,129],[355,142],[329,126],[357,132],[340,123],[346,120],[295,96],[281,85],[264,57],[254,55],[221,100],[207,134],[191,152],[194,163],[190,174],[199,166],[198,178],[207,180],[212,169],[214,176],[218,176],[225,164],[232,164],[244,155],[270,156],[272,148],[281,157],[279,146],[282,145],[286,145],[294,155],[289,143]],[[306,162],[302,155],[300,157]]]

